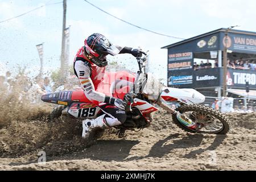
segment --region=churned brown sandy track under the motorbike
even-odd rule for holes
[[[0,130],[2,170],[255,170],[256,113],[229,114],[228,135],[192,134],[179,129],[163,111],[154,123],[124,139],[105,134],[88,148],[80,123],[13,122]],[[46,164],[38,164],[44,150]]]

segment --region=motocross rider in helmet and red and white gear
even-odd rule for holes
[[[85,96],[101,108],[103,115],[96,119],[82,121],[82,138],[87,138],[95,128],[106,129],[121,125],[126,121],[126,101],[102,93],[104,87],[105,67],[108,65],[107,55],[115,56],[130,53],[137,57],[146,55],[141,49],[114,46],[101,34],[92,34],[85,39],[84,47],[77,51],[74,60],[74,72],[79,78]]]

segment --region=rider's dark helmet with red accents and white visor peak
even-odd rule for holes
[[[101,34],[92,34],[84,41],[84,53],[86,57],[96,64],[98,67],[106,67],[108,61],[107,55],[117,55],[119,49],[115,47],[109,40]]]

